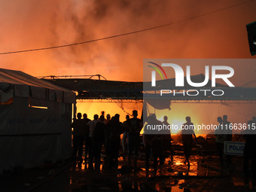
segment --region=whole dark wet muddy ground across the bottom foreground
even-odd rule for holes
[[[144,154],[139,157],[140,170],[136,172],[126,170],[127,160],[123,157],[119,158],[119,169],[111,171],[95,172],[83,160],[83,163],[66,162],[5,172],[1,175],[1,191],[253,191],[251,182],[250,186],[244,186],[242,157],[234,156],[234,167],[223,170],[215,154],[204,159],[194,154],[188,168],[183,154],[176,152],[173,161],[167,157],[157,172],[153,169],[146,172]]]

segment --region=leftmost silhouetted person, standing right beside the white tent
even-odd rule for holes
[[[82,160],[84,137],[86,132],[86,123],[81,119],[82,114],[77,114],[78,119],[72,123],[73,130],[73,159],[76,159],[78,152],[78,160]]]

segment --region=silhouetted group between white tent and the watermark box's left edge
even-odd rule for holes
[[[126,121],[120,122],[120,115],[111,117],[102,111],[101,116],[95,114],[93,120],[81,119],[81,113],[72,123],[73,128],[73,159],[82,161],[83,145],[85,145],[85,162],[88,167],[99,170],[101,163],[102,146],[105,148],[105,168],[117,169],[120,151],[120,135],[123,134],[123,158],[128,154],[128,164],[131,168],[132,160],[134,169],[137,168],[138,152],[140,148],[140,132],[142,120],[137,118],[138,112],[133,111],[133,117],[126,116]],[[126,142],[127,139],[127,142]],[[87,156],[89,159],[87,160]],[[93,167],[93,162],[94,167]]]

